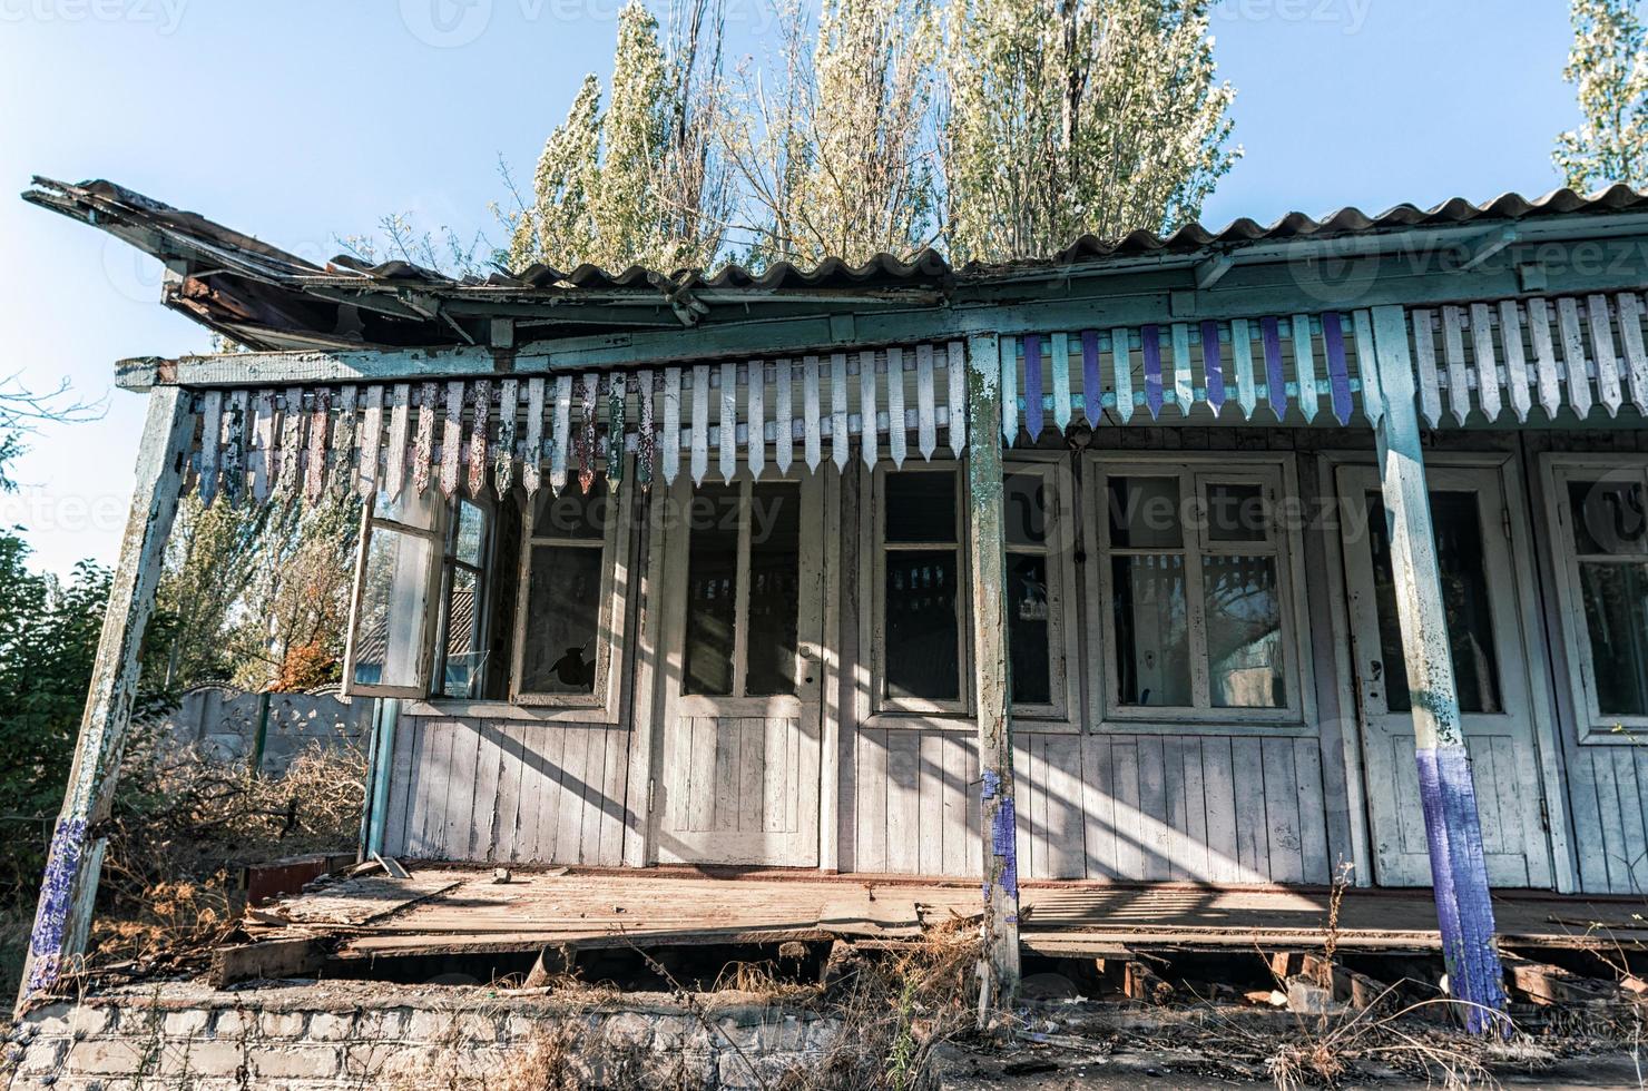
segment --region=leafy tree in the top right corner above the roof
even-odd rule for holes
[[[1582,120],[1552,160],[1572,190],[1648,185],[1648,43],[1636,0],[1574,0],[1574,46],[1562,77]]]

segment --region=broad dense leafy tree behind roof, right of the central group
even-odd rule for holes
[[[951,0],[954,260],[1193,221],[1241,155],[1206,0]]]

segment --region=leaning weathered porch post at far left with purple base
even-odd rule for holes
[[[109,588],[92,684],[81,717],[74,766],[63,811],[51,836],[40,908],[23,962],[18,1010],[49,990],[63,971],[86,951],[97,873],[105,839],[99,824],[109,817],[120,773],[120,752],[137,695],[137,653],[155,605],[160,560],[178,511],[178,491],[194,438],[191,396],[180,387],[155,387],[137,453],[137,485],[127,516],[120,560]]]

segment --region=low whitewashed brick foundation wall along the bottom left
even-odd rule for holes
[[[313,982],[130,986],[36,1009],[0,1078],[53,1088],[485,1088],[565,1065],[580,1086],[758,1088],[817,1060],[839,1023],[750,994],[618,1002],[544,990]]]

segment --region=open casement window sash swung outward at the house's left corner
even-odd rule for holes
[[[422,697],[428,682],[432,580],[440,555],[438,494],[379,493],[366,509],[354,577],[354,623],[344,651],[344,692]]]

